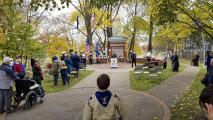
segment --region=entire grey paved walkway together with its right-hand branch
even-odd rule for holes
[[[126,120],[153,120],[154,117],[158,117],[159,120],[168,120],[170,111],[167,105],[170,107],[175,105],[186,89],[191,86],[199,71],[199,68],[187,66],[183,72],[142,93],[130,89],[130,69],[128,69],[130,65],[120,66],[118,69],[110,69],[109,65],[89,66],[87,69],[95,68],[95,72],[73,88],[48,94],[42,105],[36,105],[30,110],[20,109],[7,116],[6,120],[81,120],[84,103],[97,90],[96,78],[102,73],[110,75],[110,90],[124,101]]]

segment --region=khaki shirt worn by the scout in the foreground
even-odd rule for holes
[[[83,120],[115,120],[116,112],[120,118],[124,117],[123,103],[116,95],[112,95],[106,107],[98,102],[96,96],[92,96],[85,105]]]

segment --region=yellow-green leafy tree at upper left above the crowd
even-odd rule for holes
[[[0,50],[2,55],[15,57],[16,55],[32,56],[32,52],[36,52],[38,48],[43,46],[37,45],[34,39],[35,28],[31,23],[26,23],[21,14],[21,8],[17,1],[8,0],[0,1]],[[36,50],[35,50],[36,49]],[[43,50],[43,49],[41,49]]]

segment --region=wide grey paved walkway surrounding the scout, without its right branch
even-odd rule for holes
[[[128,65],[129,67],[130,65]],[[93,69],[94,66],[88,67]],[[129,83],[129,70],[96,69],[94,73],[80,81],[72,89],[60,93],[48,94],[42,105],[30,110],[22,110],[7,116],[6,120],[81,120],[82,109],[88,97],[94,94],[96,78],[102,73],[111,77],[110,90],[116,93],[125,104],[126,120],[168,119],[168,107],[164,102],[145,93],[132,91]]]

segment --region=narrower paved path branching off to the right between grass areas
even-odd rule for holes
[[[198,72],[199,67],[186,65],[183,72],[177,73],[160,85],[147,91],[147,93],[163,100],[169,107],[173,107],[189,87],[191,87]]]

